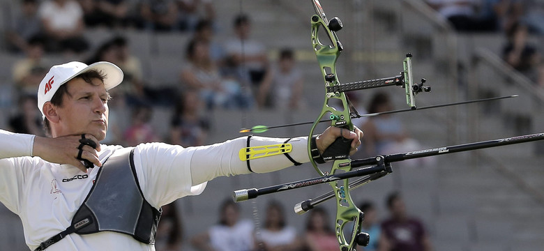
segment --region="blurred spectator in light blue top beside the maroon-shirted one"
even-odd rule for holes
[[[370,241],[366,247],[358,247],[358,250],[387,250],[387,243],[381,238],[381,228],[378,224],[377,211],[374,204],[370,201],[363,201],[359,209],[365,213],[361,231],[370,235]]]

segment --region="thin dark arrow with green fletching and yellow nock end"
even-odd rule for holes
[[[466,104],[471,104],[471,103],[475,103],[475,102],[487,102],[487,101],[501,100],[501,99],[506,99],[506,98],[516,98],[518,96],[519,95],[502,96],[502,97],[495,97],[495,98],[483,98],[483,99],[479,99],[479,100],[453,102],[453,103],[442,104],[442,105],[430,105],[430,106],[426,106],[426,107],[418,107],[416,109],[407,108],[407,109],[398,109],[398,110],[393,110],[393,111],[388,111],[388,112],[376,112],[376,113],[363,114],[363,115],[361,115],[361,114],[352,114],[351,116],[352,116],[352,119],[358,119],[358,118],[363,118],[363,117],[379,116],[379,115],[385,115],[385,114],[395,114],[395,113],[400,113],[400,112],[411,112],[411,111],[418,111],[418,110],[423,110],[423,109],[448,107],[448,106],[453,106],[453,105],[466,105]],[[319,123],[330,122],[330,121],[332,121],[332,119],[324,119],[322,121],[319,121]],[[246,128],[241,129],[240,133],[245,133],[245,132],[262,133],[262,132],[266,132],[267,130],[274,129],[274,128],[285,128],[285,127],[289,127],[289,126],[301,126],[301,125],[308,125],[308,124],[312,124],[312,123],[314,123],[314,121],[300,122],[300,123],[290,123],[290,124],[285,124],[285,125],[280,125],[280,126],[253,126],[252,128],[249,128],[249,129],[246,129]]]

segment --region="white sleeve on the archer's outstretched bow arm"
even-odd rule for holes
[[[282,144],[286,139],[251,137],[250,146]],[[248,137],[239,137],[220,144],[183,148],[164,143],[140,144],[135,149],[134,163],[144,197],[156,208],[188,195],[199,195],[206,181],[218,176],[249,174],[248,164],[239,158]],[[289,141],[289,155],[296,162],[308,162],[307,138]],[[253,172],[264,173],[293,165],[285,155],[250,160]]]

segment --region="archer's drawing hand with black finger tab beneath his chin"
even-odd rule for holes
[[[77,160],[77,155],[80,153],[81,135],[70,135],[56,138],[38,137],[34,139],[33,155],[42,158],[43,160],[57,163],[68,164],[77,167],[83,172],[87,172],[85,165],[81,160]],[[82,147],[81,158],[89,160],[98,167],[102,166],[98,160],[98,152],[100,151],[100,142],[93,135],[86,134],[85,139],[91,139],[96,143],[96,149],[89,145]]]

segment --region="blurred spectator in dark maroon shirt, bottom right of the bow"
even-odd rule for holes
[[[388,195],[387,208],[390,218],[381,223],[387,251],[430,251],[431,243],[420,220],[407,215],[405,202],[398,192]]]

